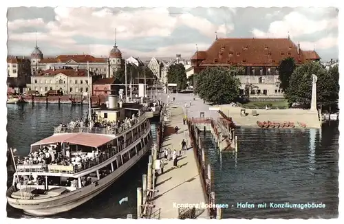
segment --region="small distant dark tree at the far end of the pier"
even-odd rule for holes
[[[180,90],[186,88],[186,81],[186,71],[183,64],[175,64],[169,67],[169,71],[167,71],[167,82],[177,83],[178,90]]]

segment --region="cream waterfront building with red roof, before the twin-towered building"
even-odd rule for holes
[[[63,95],[85,95],[92,91],[92,72],[89,78],[86,69],[48,69],[31,76],[28,90],[39,91],[45,95],[47,91],[60,91]]]

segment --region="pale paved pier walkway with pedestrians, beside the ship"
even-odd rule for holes
[[[182,103],[183,106],[180,106],[184,107],[185,102]],[[166,123],[166,137],[162,143],[162,150],[164,148],[175,149],[179,155],[180,149],[182,148],[182,139],[186,140],[189,150],[182,151],[181,156],[178,157],[178,166],[180,168],[172,168],[173,161],[166,161],[164,173],[157,178],[155,189],[159,192],[155,193],[154,210],[160,209],[160,219],[178,219],[178,208],[173,203],[193,204],[206,202],[200,175],[197,170],[197,161],[190,147],[187,126],[186,124],[183,125],[182,122],[184,115],[184,109],[182,107],[172,107],[172,117],[169,117],[169,122]],[[178,134],[174,133],[173,128],[175,126],[180,128]],[[159,157],[163,159],[162,152],[160,152]],[[197,219],[209,219],[207,210],[197,212],[199,214]]]

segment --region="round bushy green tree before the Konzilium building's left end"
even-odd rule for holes
[[[196,76],[195,93],[203,100],[214,104],[234,102],[240,93],[241,67],[207,67]]]

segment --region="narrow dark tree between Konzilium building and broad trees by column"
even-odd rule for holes
[[[286,91],[286,89],[288,89],[290,76],[292,76],[292,73],[294,72],[296,67],[297,66],[295,65],[294,58],[291,57],[285,58],[279,63],[279,81],[281,82],[279,87],[283,91]]]

